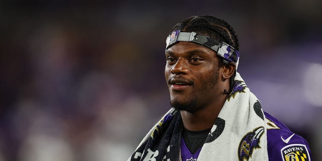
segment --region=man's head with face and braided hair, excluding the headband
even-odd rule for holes
[[[232,27],[212,16],[190,17],[176,24],[172,32],[177,30],[195,32],[214,42],[224,42],[232,49],[239,48]],[[209,45],[178,41],[167,46],[166,58],[165,75],[170,103],[177,109],[193,113],[213,104],[218,97],[222,97],[220,95],[225,94],[224,90],[232,89],[236,63],[227,62]]]

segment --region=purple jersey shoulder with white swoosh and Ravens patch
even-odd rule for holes
[[[303,137],[267,112],[264,114],[269,160],[311,160],[308,143]]]

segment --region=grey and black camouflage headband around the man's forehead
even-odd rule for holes
[[[166,49],[168,49],[170,46],[177,43],[178,41],[189,41],[206,46],[216,51],[217,55],[223,57],[224,63],[235,63],[237,69],[239,61],[239,52],[225,42],[220,43],[216,40],[211,39],[208,36],[200,35],[195,32],[180,32],[180,30],[176,30],[168,36],[166,40]]]

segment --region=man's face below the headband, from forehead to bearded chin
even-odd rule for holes
[[[216,100],[221,70],[215,51],[180,41],[166,50],[166,58],[165,76],[173,107],[194,113]]]

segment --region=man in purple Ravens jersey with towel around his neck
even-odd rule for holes
[[[311,160],[306,140],[263,112],[236,72],[238,39],[227,22],[190,17],[166,42],[172,108],[128,160]]]

